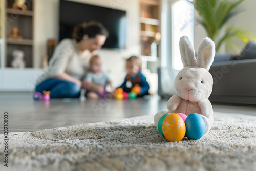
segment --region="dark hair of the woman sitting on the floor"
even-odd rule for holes
[[[89,38],[94,38],[96,35],[109,36],[106,28],[98,22],[89,22],[77,25],[73,31],[73,38],[76,42],[80,42],[84,35],[88,35]]]

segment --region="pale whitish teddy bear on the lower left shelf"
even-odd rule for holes
[[[11,61],[11,66],[14,68],[25,68],[26,62],[24,58],[24,52],[22,50],[15,49],[12,52],[13,60]]]

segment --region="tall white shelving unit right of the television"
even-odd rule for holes
[[[150,84],[150,92],[156,93],[160,56],[160,44],[156,37],[161,34],[161,0],[140,0],[139,21],[141,69]]]

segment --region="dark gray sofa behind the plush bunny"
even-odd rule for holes
[[[256,104],[255,43],[249,42],[237,56],[217,53],[209,72],[214,78],[209,97],[211,102]],[[176,74],[172,69],[158,68],[158,94],[161,97],[168,98],[175,94],[170,84],[173,84]]]

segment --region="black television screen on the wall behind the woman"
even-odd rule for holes
[[[66,0],[59,2],[59,41],[72,38],[77,24],[90,21],[102,23],[109,31],[102,48],[126,48],[126,11]]]

